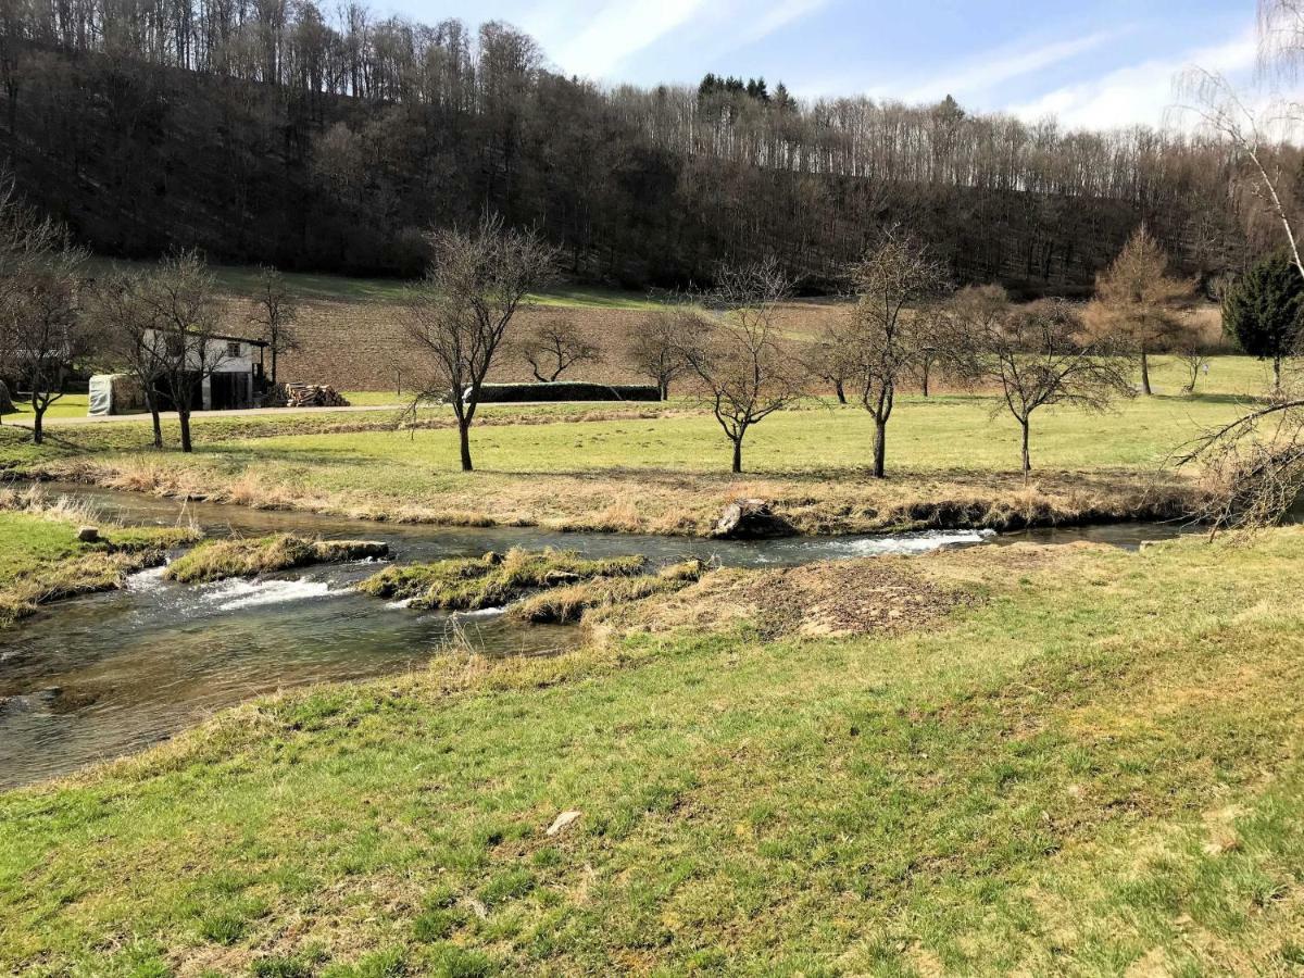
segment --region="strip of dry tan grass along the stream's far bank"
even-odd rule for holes
[[[147,455],[50,463],[44,476],[181,499],[434,526],[544,527],[566,532],[705,536],[725,506],[763,498],[803,535],[913,529],[1088,526],[1164,520],[1198,509],[1201,489],[1176,475],[1129,469],[1046,473],[904,473],[889,481],[849,472],[756,477],[662,469],[593,473],[479,473],[466,488],[420,501],[313,492],[256,472],[224,473]]]

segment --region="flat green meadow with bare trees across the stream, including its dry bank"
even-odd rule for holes
[[[1217,359],[1194,395],[1180,393],[1176,364],[1155,373],[1158,396],[1116,411],[1039,412],[1029,488],[1017,472],[1013,419],[977,394],[902,396],[888,428],[885,482],[866,475],[868,415],[815,400],[752,429],[742,477],[728,473],[729,445],[715,420],[683,400],[486,406],[469,476],[458,468],[443,409],[404,430],[385,412],[198,419],[192,456],[145,450],[140,422],[64,426],[43,449],[10,428],[0,432],[0,468],[343,515],[672,533],[704,532],[743,494],[773,499],[810,532],[939,524],[957,507],[969,523],[998,527],[1020,512],[1120,519],[1180,506],[1193,473],[1166,462],[1267,385],[1266,366],[1245,357]]]

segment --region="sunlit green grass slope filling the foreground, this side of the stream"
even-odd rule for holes
[[[944,553],[898,565],[974,597],[926,629],[262,700],[0,795],[0,964],[1291,973],[1301,561],[1299,529]]]

